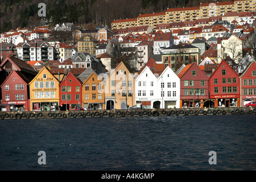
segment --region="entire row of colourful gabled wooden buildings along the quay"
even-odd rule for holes
[[[88,76],[81,81],[72,72],[62,78],[46,67],[32,79],[13,70],[1,85],[1,107],[6,111],[126,109],[135,105],[147,109],[240,107],[256,99],[256,61],[241,76],[224,60],[210,77],[196,63],[183,65],[175,73],[153,59],[136,74],[122,62],[100,75],[90,68],[85,72]]]

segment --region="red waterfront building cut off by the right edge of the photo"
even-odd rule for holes
[[[241,106],[256,101],[256,61],[252,61],[240,76]]]

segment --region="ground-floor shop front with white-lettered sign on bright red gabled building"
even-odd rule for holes
[[[214,107],[240,107],[240,95],[220,95],[214,97]]]

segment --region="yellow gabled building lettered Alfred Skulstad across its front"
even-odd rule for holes
[[[44,67],[28,84],[30,85],[31,111],[55,111],[58,109],[59,80]]]

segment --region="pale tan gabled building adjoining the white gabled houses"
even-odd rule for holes
[[[135,79],[123,62],[110,71],[105,81],[106,109],[126,109],[134,106]]]

